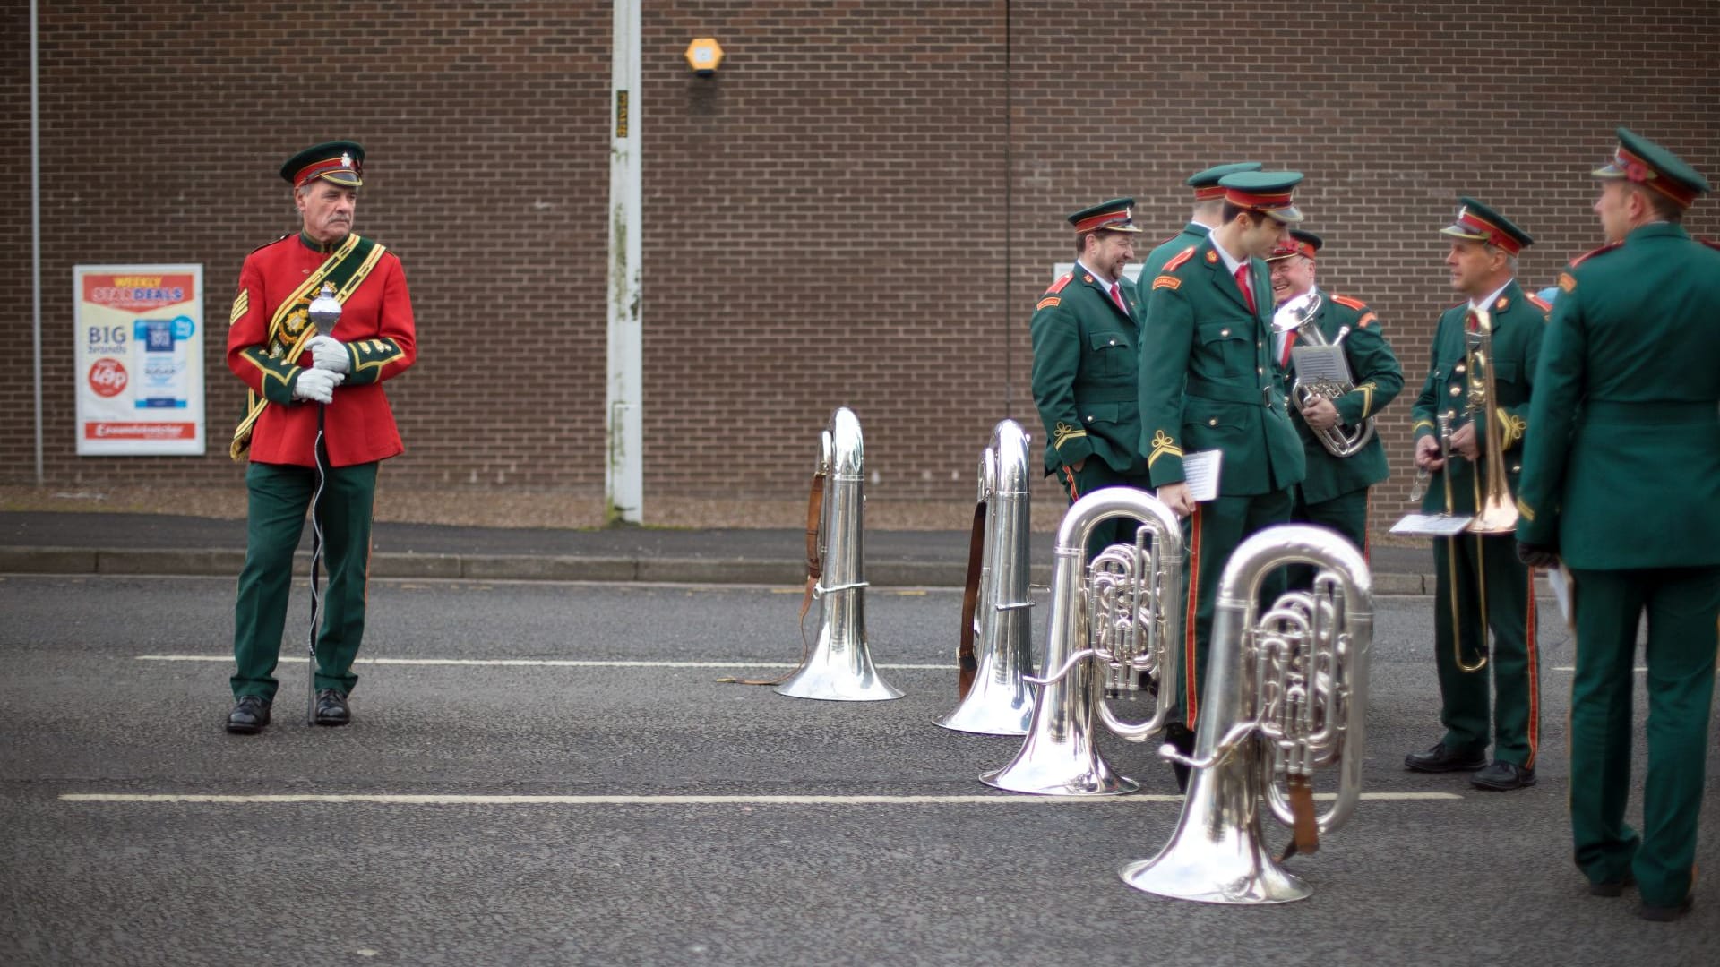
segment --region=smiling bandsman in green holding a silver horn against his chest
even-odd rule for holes
[[[1347,440],[1359,440],[1362,427],[1369,418],[1397,399],[1404,389],[1404,366],[1379,332],[1379,317],[1367,303],[1350,296],[1340,296],[1321,289],[1314,282],[1316,255],[1321,239],[1314,232],[1302,229],[1290,231],[1290,241],[1273,249],[1266,260],[1273,268],[1273,301],[1283,305],[1307,293],[1319,293],[1319,310],[1314,318],[1302,323],[1304,329],[1280,336],[1278,361],[1285,366],[1287,380],[1295,382],[1295,365],[1292,349],[1297,344],[1318,344],[1307,327],[1319,329],[1328,344],[1343,348],[1343,358],[1350,366],[1352,389],[1335,399],[1314,394],[1309,404],[1297,408],[1292,399],[1290,420],[1302,437],[1302,453],[1307,458],[1307,477],[1295,487],[1295,508],[1290,520],[1330,527],[1355,544],[1367,554],[1367,492],[1369,487],[1385,480],[1386,447],[1378,434],[1369,434],[1367,442],[1348,456],[1336,456],[1321,442],[1319,434],[1336,435]],[[1311,587],[1314,570],[1297,566],[1290,573],[1290,587]]]

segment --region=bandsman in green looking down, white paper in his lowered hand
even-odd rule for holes
[[[1221,224],[1147,280],[1140,334],[1140,456],[1158,497],[1189,518],[1183,662],[1176,683],[1183,723],[1166,740],[1189,752],[1206,681],[1213,595],[1230,552],[1247,535],[1290,520],[1302,480],[1302,442],[1290,423],[1273,360],[1273,298],[1266,256],[1302,213],[1300,172],[1225,176]],[[1183,456],[1218,451],[1218,496],[1195,502]],[[1278,597],[1281,580],[1262,595]],[[1187,779],[1176,769],[1178,785]]]

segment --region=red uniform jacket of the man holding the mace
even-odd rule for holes
[[[268,346],[275,310],[329,258],[313,244],[303,234],[287,236],[248,255],[239,270],[239,294],[227,329],[227,368],[268,399],[251,430],[251,459],[258,463],[315,466],[318,404],[292,399],[294,368],[270,356]],[[306,308],[311,296],[301,298],[296,311]],[[406,447],[382,380],[406,372],[418,358],[418,346],[406,272],[392,251],[385,251],[347,296],[332,336],[347,344],[351,370],[334,389],[334,403],[325,406],[329,465],[351,466],[402,453]],[[303,353],[298,365],[310,366],[311,354]]]

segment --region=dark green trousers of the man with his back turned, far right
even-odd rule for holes
[[[1591,883],[1636,876],[1643,903],[1691,891],[1720,647],[1720,568],[1572,571],[1577,674],[1570,683],[1570,835]],[[1631,800],[1631,692],[1648,613],[1648,779],[1643,833]]]

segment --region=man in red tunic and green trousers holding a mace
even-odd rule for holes
[[[416,358],[413,305],[399,258],[353,232],[365,150],[353,141],[306,148],[280,169],[301,231],[258,248],[239,270],[227,366],[251,387],[232,458],[249,454],[244,571],[234,609],[227,731],[268,724],[275,664],[292,585],[292,552],[313,506],[329,559],[316,630],[316,724],[351,721],[353,659],[365,635],[365,571],[377,466],[399,454],[382,380]],[[310,318],[320,293],[341,303],[332,332]],[[322,494],[316,496],[318,485]]]

